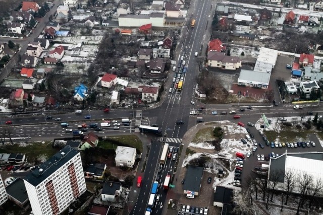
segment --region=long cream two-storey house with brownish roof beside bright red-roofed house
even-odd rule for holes
[[[241,59],[239,57],[227,56],[222,52],[210,51],[207,54],[207,65],[235,70],[241,67]]]

